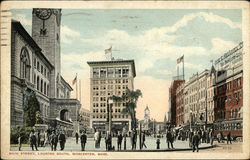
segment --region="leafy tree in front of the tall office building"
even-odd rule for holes
[[[141,90],[137,89],[136,91],[127,89],[125,94],[122,97],[112,96],[111,99],[114,102],[125,102],[125,108],[122,110],[122,113],[129,113],[132,121],[132,129],[136,129],[136,104],[139,99],[142,97]]]

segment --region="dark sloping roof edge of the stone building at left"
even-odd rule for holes
[[[38,46],[38,44],[34,41],[34,39],[29,35],[29,33],[23,28],[22,24],[19,21],[11,20],[11,27],[15,29],[25,41],[35,50],[35,53],[40,56],[52,69],[54,66],[50,63],[50,61],[44,56],[42,53],[42,49]]]

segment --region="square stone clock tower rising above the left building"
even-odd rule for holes
[[[61,86],[60,23],[61,9],[33,9],[32,37],[54,66],[50,73],[50,98],[59,98]]]

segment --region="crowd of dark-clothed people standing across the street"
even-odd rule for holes
[[[53,130],[52,132],[44,131],[44,132],[39,132],[39,131],[34,131],[32,130],[30,135],[29,135],[29,144],[32,150],[37,150],[38,147],[45,147],[45,146],[50,146],[51,151],[56,151],[57,145],[59,143],[60,145],[60,150],[64,150],[65,144],[66,144],[66,138],[67,136],[65,135],[64,131],[56,131]],[[80,131],[80,133],[76,132],[75,135],[75,140],[76,144],[80,142],[81,144],[81,150],[85,151],[85,146],[88,141],[88,136],[86,134],[86,131]],[[112,145],[112,137],[116,137],[117,139],[117,148],[115,148],[114,145]],[[101,140],[104,139],[105,142],[105,148],[106,151],[120,151],[122,150],[127,150],[127,140],[130,139],[130,144],[131,144],[131,150],[136,150],[138,148],[137,144],[139,144],[139,149],[147,148],[146,145],[146,140],[147,137],[144,131],[136,131],[132,130],[129,133],[122,133],[121,131],[118,131],[118,133],[114,136],[111,135],[109,131],[106,132],[106,134],[102,134],[101,131],[96,130],[93,134],[94,138],[94,147],[96,149],[100,148],[100,143]],[[201,143],[211,143],[213,145],[214,141],[214,136],[213,136],[213,130],[212,129],[203,129],[203,128],[198,128],[198,129],[180,129],[176,130],[173,128],[168,128],[166,130],[165,134],[156,134],[154,135],[156,139],[156,149],[161,149],[161,140],[165,139],[166,141],[163,143],[167,143],[168,148],[167,149],[174,149],[174,143],[176,140],[179,141],[188,141],[189,147],[192,148],[192,151],[199,151],[199,145]],[[218,141],[224,142],[224,136],[222,133],[218,133],[217,136],[215,137]],[[228,132],[226,136],[227,144],[231,142],[231,133]],[[123,143],[123,147],[122,147]],[[18,137],[18,149],[21,150],[22,147],[22,137]]]

